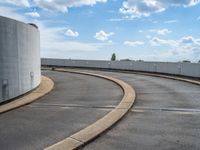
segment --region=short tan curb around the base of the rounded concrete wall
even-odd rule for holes
[[[42,81],[38,88],[36,88],[35,90],[33,90],[32,92],[23,97],[20,97],[14,101],[11,101],[7,104],[0,106],[0,114],[21,107],[23,105],[32,103],[33,101],[48,94],[53,89],[53,87],[54,87],[53,80],[48,77],[42,76]]]

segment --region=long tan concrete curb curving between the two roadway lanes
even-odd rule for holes
[[[84,74],[110,80],[118,84],[123,89],[124,96],[121,102],[115,107],[115,109],[113,109],[107,115],[97,120],[93,124],[87,126],[86,128],[78,131],[77,133],[69,136],[68,138],[45,148],[45,150],[73,150],[80,148],[117,123],[130,110],[135,101],[135,90],[122,80],[104,75],[74,70],[55,69],[55,71]]]

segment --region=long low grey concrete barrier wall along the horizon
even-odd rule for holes
[[[85,67],[156,72],[200,78],[200,63],[95,61],[43,58],[44,66]]]

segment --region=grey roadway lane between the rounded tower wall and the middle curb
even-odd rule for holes
[[[45,71],[54,90],[35,103],[0,115],[1,150],[40,150],[103,117],[122,99],[113,82]]]

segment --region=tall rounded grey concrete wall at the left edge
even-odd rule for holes
[[[37,87],[40,66],[39,30],[0,16],[0,102]]]

